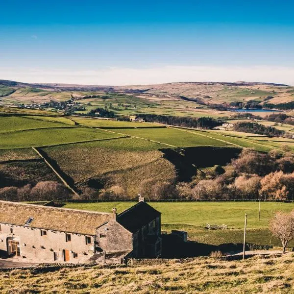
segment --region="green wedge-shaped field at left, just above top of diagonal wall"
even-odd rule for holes
[[[64,124],[62,125],[64,126]],[[0,148],[50,146],[120,137],[113,133],[81,127],[57,127],[0,134]]]

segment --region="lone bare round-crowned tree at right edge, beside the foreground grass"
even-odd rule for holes
[[[285,253],[287,244],[294,238],[294,212],[277,212],[270,221],[270,231],[281,240]]]

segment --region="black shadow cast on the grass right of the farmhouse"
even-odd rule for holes
[[[243,244],[227,243],[221,245],[210,245],[195,241],[183,242],[183,240],[175,234],[162,235],[161,258],[207,256],[213,251],[221,251],[222,253],[238,253],[243,251]]]

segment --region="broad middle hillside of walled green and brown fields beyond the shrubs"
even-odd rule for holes
[[[105,197],[116,191],[131,198],[153,194],[151,187],[161,184],[195,185],[197,176],[215,165],[226,166],[243,148],[294,150],[294,140],[283,137],[56,114],[0,107],[0,172],[7,177],[2,187],[37,182],[33,171],[41,158],[32,146],[82,197],[98,197],[104,189]],[[51,173],[43,180],[55,178]]]

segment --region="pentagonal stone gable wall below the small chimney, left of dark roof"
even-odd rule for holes
[[[133,249],[133,234],[115,218],[97,229],[97,246],[106,252],[128,252]]]

